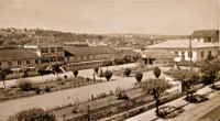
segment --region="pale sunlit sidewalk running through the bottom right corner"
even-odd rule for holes
[[[198,94],[207,92],[208,89],[210,88],[209,87],[202,88],[198,91]],[[164,106],[175,106],[175,107],[184,106],[185,109],[185,112],[182,113],[180,116],[165,121],[200,121],[202,120],[204,116],[209,113],[211,110],[220,107],[220,91],[210,94],[208,96],[209,100],[201,103],[189,103],[185,101],[183,98],[176,99],[174,101],[164,105]],[[125,121],[164,121],[164,120],[157,118],[155,114],[155,109],[152,109],[139,116],[132,117]],[[211,120],[206,119],[206,121],[211,121]]]

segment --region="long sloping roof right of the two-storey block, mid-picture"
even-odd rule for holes
[[[88,46],[88,47],[65,46],[64,50],[73,55],[97,55],[97,54],[117,53],[116,50],[108,46]]]

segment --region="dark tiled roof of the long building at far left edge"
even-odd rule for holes
[[[0,50],[0,61],[22,61],[22,59],[35,59],[40,56],[32,50]]]

